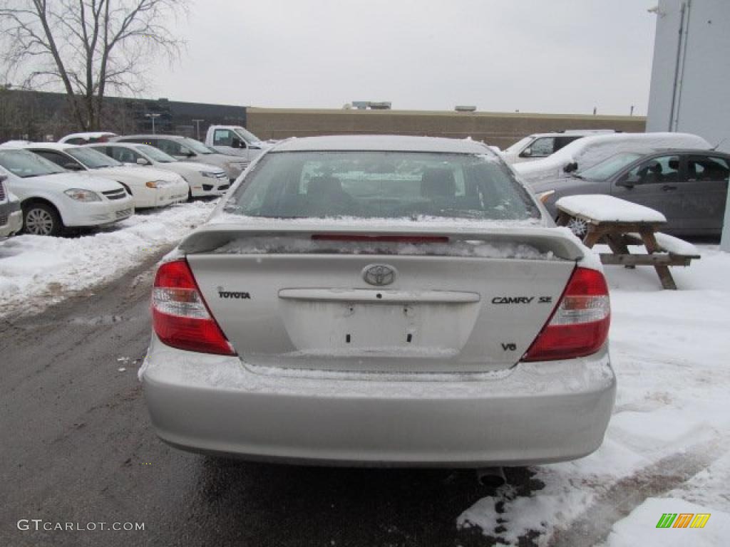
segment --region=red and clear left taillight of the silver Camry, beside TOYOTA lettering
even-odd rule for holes
[[[236,354],[205,305],[186,260],[158,268],[152,290],[152,325],[168,346],[191,352]]]

